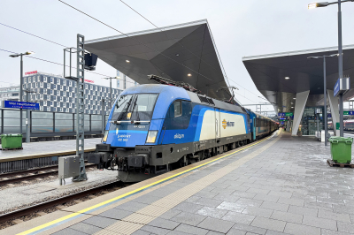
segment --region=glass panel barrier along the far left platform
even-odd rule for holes
[[[1,133],[20,133],[20,110],[0,109]],[[22,110],[22,133],[27,133],[27,110]],[[108,115],[104,116],[104,126]],[[76,134],[76,114],[46,111],[30,111],[31,137],[73,136]],[[101,114],[85,114],[85,135],[99,134],[103,132]],[[25,135],[24,135],[25,136]]]

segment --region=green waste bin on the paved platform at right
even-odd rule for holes
[[[335,163],[351,162],[351,144],[353,139],[350,137],[333,136],[328,140],[331,143],[332,160]]]

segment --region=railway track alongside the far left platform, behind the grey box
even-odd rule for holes
[[[86,167],[96,167],[96,164],[87,164]],[[26,181],[34,178],[48,177],[52,174],[58,174],[58,165],[43,168],[36,168],[26,171],[13,171],[0,174],[0,186],[12,184],[20,181]]]

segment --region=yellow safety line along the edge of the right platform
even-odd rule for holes
[[[277,133],[277,135],[279,135],[279,133]],[[197,165],[197,166],[195,166],[195,167],[193,167],[193,168],[191,168],[191,169],[189,169],[189,170],[186,170],[186,171],[181,171],[180,173],[177,173],[177,174],[175,174],[175,175],[173,175],[173,176],[170,176],[170,177],[167,177],[167,178],[160,179],[160,180],[158,180],[158,181],[156,181],[156,182],[154,182],[154,183],[151,183],[150,185],[142,186],[142,187],[140,187],[140,188],[138,188],[138,189],[135,189],[135,190],[133,190],[133,191],[130,191],[130,192],[128,192],[128,193],[124,193],[124,194],[122,194],[122,195],[119,195],[118,197],[112,198],[112,199],[107,200],[107,201],[103,201],[103,202],[98,203],[98,204],[96,204],[96,205],[94,205],[94,206],[92,206],[92,207],[89,207],[89,208],[81,209],[81,210],[78,211],[78,212],[73,212],[73,214],[70,214],[70,215],[67,215],[67,216],[63,216],[63,217],[58,218],[58,219],[56,219],[56,220],[50,221],[50,222],[47,223],[47,224],[39,225],[39,226],[37,226],[37,227],[35,227],[35,228],[33,228],[33,229],[30,229],[30,230],[27,230],[27,231],[22,231],[22,232],[20,232],[20,233],[18,233],[18,234],[19,234],[19,235],[29,234],[29,233],[34,232],[34,231],[42,230],[42,229],[44,229],[44,228],[46,228],[46,227],[49,227],[50,225],[58,224],[58,223],[60,223],[60,222],[62,222],[62,221],[65,221],[66,219],[72,218],[73,216],[79,216],[79,215],[81,215],[82,213],[88,212],[88,211],[91,210],[91,209],[102,207],[102,206],[104,206],[105,204],[108,204],[108,203],[110,203],[110,202],[112,202],[112,201],[117,201],[117,200],[119,200],[119,199],[121,199],[121,198],[127,197],[127,196],[130,195],[130,194],[133,194],[133,193],[137,193],[137,192],[139,192],[139,191],[142,191],[142,190],[144,190],[144,189],[146,189],[146,188],[148,188],[148,187],[150,187],[150,186],[158,185],[159,183],[164,182],[164,181],[166,181],[166,180],[168,180],[168,179],[170,179],[170,178],[178,177],[178,176],[180,176],[180,175],[182,175],[182,174],[184,174],[184,173],[187,173],[187,172],[189,172],[189,171],[193,171],[193,170],[195,170],[196,168],[200,168],[200,167],[202,167],[202,166],[204,166],[204,165],[206,165],[206,164],[209,164],[209,163],[213,163],[213,162],[215,162],[215,161],[218,161],[218,160],[220,160],[220,159],[222,159],[222,158],[224,158],[224,157],[227,157],[228,155],[233,155],[233,154],[235,154],[235,153],[237,153],[237,152],[240,152],[240,151],[242,151],[242,150],[244,150],[244,149],[246,149],[246,148],[250,148],[250,147],[255,146],[255,145],[257,145],[257,144],[259,144],[259,143],[261,143],[261,142],[263,142],[263,141],[266,141],[266,140],[268,140],[268,139],[270,139],[270,138],[272,138],[272,137],[273,137],[273,136],[270,136],[270,137],[267,137],[265,140],[259,140],[258,142],[254,143],[254,144],[251,144],[250,146],[247,146],[247,147],[245,147],[245,148],[238,149],[238,150],[236,150],[235,152],[232,152],[232,153],[230,153],[230,154],[220,156],[220,157],[218,157],[218,158],[216,158],[216,159],[214,159],[214,160],[212,160],[212,161],[209,161],[209,162],[207,162],[207,163],[203,163],[203,164]]]

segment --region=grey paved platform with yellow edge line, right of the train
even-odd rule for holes
[[[329,147],[272,136],[0,231],[0,234],[350,234],[353,169]]]

